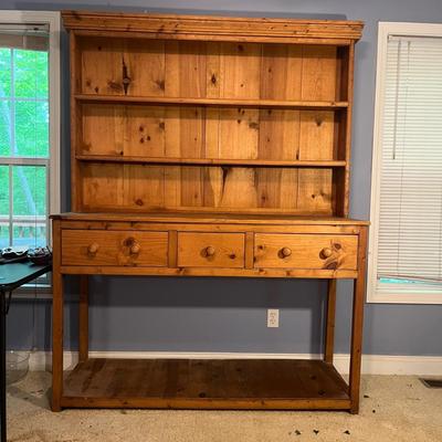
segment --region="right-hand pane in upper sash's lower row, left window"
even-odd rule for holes
[[[15,102],[14,156],[49,156],[48,102]]]

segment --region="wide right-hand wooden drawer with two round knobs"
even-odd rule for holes
[[[255,234],[255,267],[357,269],[357,235]]]

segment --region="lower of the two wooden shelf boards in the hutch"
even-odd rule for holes
[[[346,161],[338,160],[269,160],[269,159],[213,159],[213,158],[165,158],[165,157],[124,157],[113,155],[76,155],[81,161],[92,162],[133,162],[148,165],[186,166],[239,166],[239,167],[306,167],[333,168],[345,167]]]

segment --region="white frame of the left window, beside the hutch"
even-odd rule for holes
[[[0,23],[49,24],[49,213],[60,212],[60,12],[0,10]],[[51,225],[48,242],[52,244]]]

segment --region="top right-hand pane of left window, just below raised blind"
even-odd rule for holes
[[[20,98],[48,98],[48,52],[14,50],[14,93]]]

